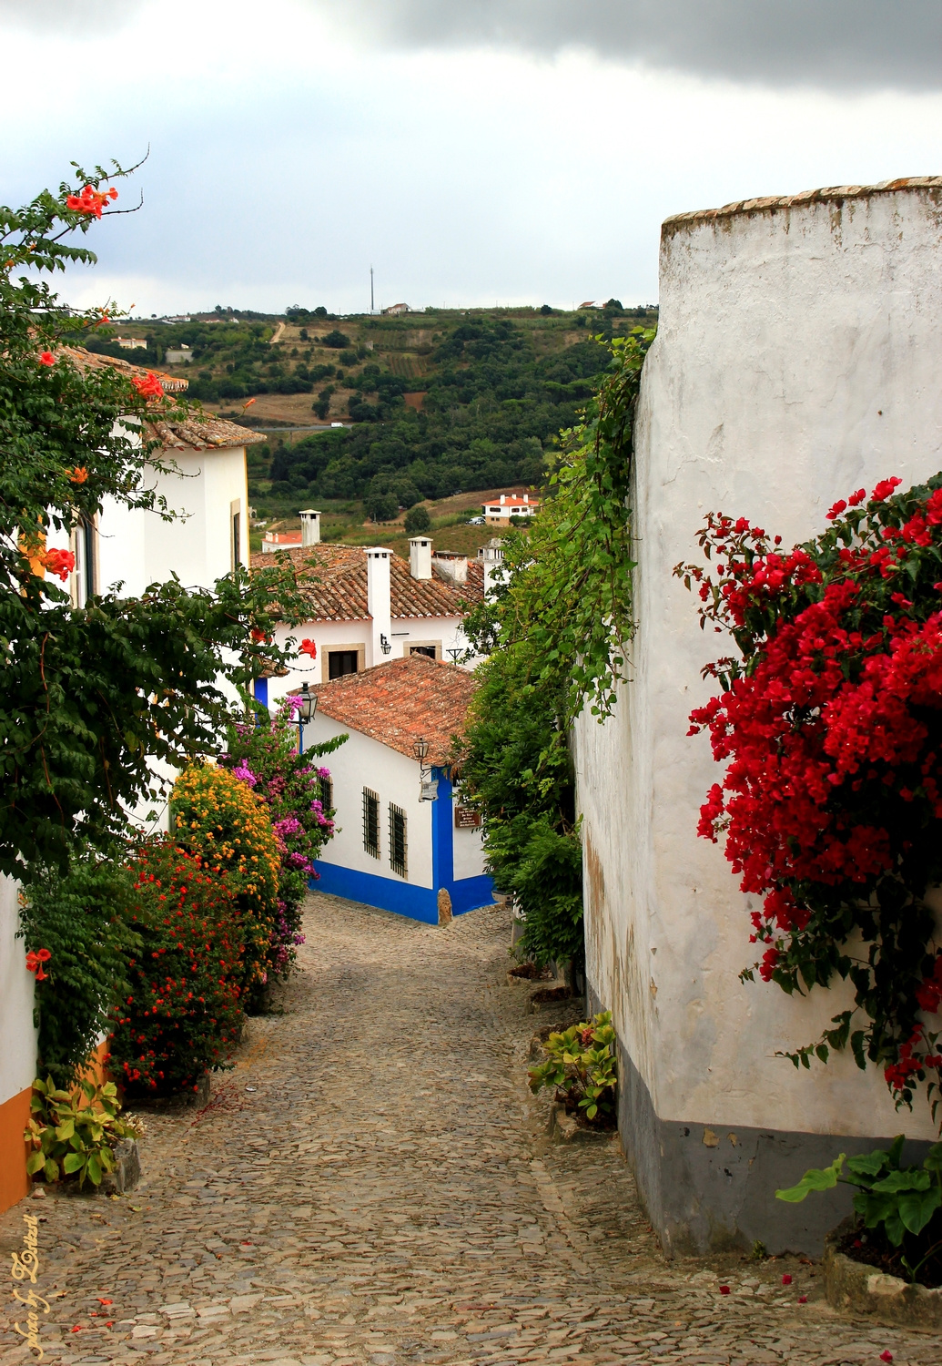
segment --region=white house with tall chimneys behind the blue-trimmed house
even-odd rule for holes
[[[299,534],[319,534],[318,518],[314,510],[303,512],[306,530]],[[257,679],[259,701],[274,705],[299,682],[328,683],[412,654],[464,663],[463,622],[483,597],[483,563],[453,555],[440,559],[423,535],[410,541],[408,564],[385,546],[315,541],[289,549],[288,556],[306,571],[300,587],[311,615],[302,626],[277,627],[276,641],[281,645],[295,637],[302,653],[287,673]],[[268,556],[253,557],[254,566],[268,563]]]

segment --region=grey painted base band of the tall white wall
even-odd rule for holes
[[[590,1004],[603,1008],[591,988]],[[758,1240],[769,1253],[820,1257],[825,1235],[852,1213],[852,1190],[838,1186],[800,1205],[777,1201],[775,1190],[793,1186],[810,1167],[827,1167],[838,1153],[868,1153],[893,1137],[663,1120],[621,1040],[618,1130],[647,1217],[669,1255],[748,1251]],[[904,1162],[922,1161],[928,1146],[908,1143]]]

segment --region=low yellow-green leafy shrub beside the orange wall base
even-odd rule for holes
[[[79,1190],[86,1179],[100,1186],[102,1175],[115,1169],[112,1143],[138,1137],[120,1109],[113,1082],[82,1081],[67,1091],[51,1076],[45,1082],[37,1076],[23,1134],[33,1149],[26,1161],[29,1175],[46,1182],[75,1177]]]

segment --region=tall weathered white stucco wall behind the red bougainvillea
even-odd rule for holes
[[[663,1120],[934,1138],[849,1057],[797,1072],[849,993],[743,985],[748,900],[721,846],[696,839],[719,776],[688,712],[725,637],[672,576],[710,510],[786,545],[838,497],[942,467],[942,191],[904,187],[665,224],[661,321],[642,387],[631,678],[616,717],[583,719],[588,979]]]

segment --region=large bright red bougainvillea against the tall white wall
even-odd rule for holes
[[[707,729],[729,761],[699,833],[722,836],[741,889],[763,897],[755,967],[786,992],[834,974],[855,988],[855,1009],[789,1056],[807,1067],[849,1042],[909,1104],[942,1067],[920,1014],[942,1003],[924,900],[942,881],[942,474],[908,493],[900,482],[840,500],[830,529],[788,552],[711,514],[700,545],[715,576],[674,572],[741,654],[704,669],[724,691],[691,713],[691,734]]]

